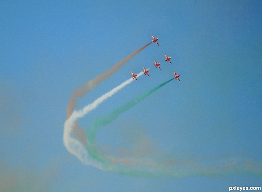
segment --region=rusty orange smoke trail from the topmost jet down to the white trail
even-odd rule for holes
[[[129,56],[122,59],[119,63],[115,64],[111,69],[108,69],[107,71],[103,72],[103,74],[98,75],[95,77],[95,79],[92,79],[88,82],[85,82],[82,87],[77,87],[68,102],[68,105],[66,107],[66,118],[68,119],[70,115],[73,113],[73,110],[77,107],[76,105],[76,99],[77,97],[83,97],[88,91],[93,90],[95,86],[100,84],[100,82],[105,81],[108,77],[110,77],[114,72],[116,72],[120,67],[122,67],[123,64],[125,64],[129,59],[134,57],[137,53],[145,49],[148,45],[150,45],[152,42],[146,44],[145,46],[141,47],[140,49],[136,50]]]

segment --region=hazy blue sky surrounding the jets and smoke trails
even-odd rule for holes
[[[261,172],[140,178],[102,171],[83,165],[63,145],[73,90],[154,34],[159,46],[150,44],[130,59],[78,99],[77,109],[130,78],[130,70],[139,73],[145,66],[150,78],[139,77],[79,124],[88,130],[95,117],[171,79],[175,70],[181,83],[169,82],[122,113],[100,129],[98,142],[188,158],[241,153],[261,170],[261,1],[0,4],[0,191],[227,191],[261,185]]]

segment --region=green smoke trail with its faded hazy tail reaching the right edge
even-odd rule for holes
[[[101,127],[113,122],[117,117],[134,107],[159,88],[166,85],[168,80],[148,92],[143,93],[125,103],[120,107],[116,107],[103,117],[95,118],[86,131],[87,151],[88,155],[94,160],[101,163],[103,170],[112,171],[128,176],[157,178],[157,177],[189,177],[189,176],[211,176],[214,178],[228,176],[230,174],[251,174],[253,176],[262,176],[262,163],[251,159],[240,159],[228,157],[223,160],[215,158],[198,159],[195,156],[186,158],[171,158],[171,160],[163,157],[160,161],[157,159],[149,159],[147,157],[135,158],[115,158],[114,155],[107,155],[103,149],[99,148],[96,141],[96,135]],[[180,154],[181,155],[181,154]]]

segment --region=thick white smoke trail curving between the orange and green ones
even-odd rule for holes
[[[137,77],[140,77],[143,74],[144,74],[143,72],[140,72],[139,74],[137,74]],[[90,103],[87,106],[85,106],[82,110],[74,111],[72,115],[65,121],[64,134],[63,134],[64,145],[66,149],[70,153],[75,155],[78,159],[80,159],[83,164],[93,165],[97,168],[104,170],[101,163],[96,162],[95,160],[93,160],[92,158],[88,156],[86,146],[71,136],[70,133],[71,133],[72,127],[77,123],[77,120],[79,118],[83,117],[88,112],[94,110],[96,107],[98,107],[98,105],[104,102],[108,97],[112,97],[115,93],[120,91],[126,85],[130,84],[133,80],[134,80],[133,78],[126,80],[122,84],[113,88],[111,91],[105,93],[104,95],[96,99],[93,103]]]

